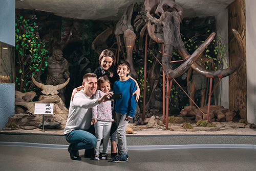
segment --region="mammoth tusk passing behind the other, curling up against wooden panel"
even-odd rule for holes
[[[245,48],[244,48],[244,43],[243,43],[243,40],[242,40],[240,34],[235,29],[232,29],[232,32],[233,32],[234,37],[237,39],[239,48],[241,50],[241,51],[239,51],[239,55],[238,55],[236,62],[234,62],[231,66],[229,66],[226,69],[216,70],[216,71],[205,69],[205,68],[201,67],[200,65],[198,65],[197,63],[194,63],[193,65],[191,65],[191,67],[196,72],[198,72],[199,74],[201,74],[203,76],[212,76],[214,78],[227,77],[227,76],[233,74],[234,72],[236,72],[244,62]],[[182,47],[180,50],[178,50],[178,53],[183,57],[183,59],[185,59],[189,56],[188,52],[186,51],[186,49],[184,47]]]

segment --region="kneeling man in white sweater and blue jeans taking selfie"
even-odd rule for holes
[[[102,95],[99,99],[93,99],[97,90],[97,76],[88,73],[83,76],[83,89],[74,95],[70,102],[69,116],[64,135],[70,143],[68,151],[72,160],[81,160],[78,150],[92,149],[97,143],[93,135],[94,129],[90,129],[92,120],[92,107],[109,101],[113,92]]]

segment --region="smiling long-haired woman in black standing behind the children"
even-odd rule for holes
[[[107,76],[111,82],[111,85],[113,85],[115,83],[115,81],[117,81],[119,79],[119,77],[117,75],[117,70],[115,67],[116,59],[115,59],[114,53],[110,50],[102,51],[99,56],[99,64],[100,64],[100,66],[97,69],[95,69],[94,74],[96,74],[98,78]],[[128,77],[131,78],[132,80],[134,80],[131,76],[128,76]],[[138,102],[139,96],[140,96],[140,88],[139,88],[137,81],[136,80],[134,80],[134,81],[136,83],[137,90],[132,95],[136,94],[135,101]],[[80,91],[82,88],[83,87],[80,86],[73,90],[71,100],[73,100],[75,93]],[[116,129],[117,129],[116,123],[112,124],[111,133],[110,133],[111,157],[115,157],[117,155],[117,152],[116,152]]]

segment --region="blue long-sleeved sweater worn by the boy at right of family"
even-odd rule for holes
[[[137,89],[135,81],[128,79],[126,81],[116,81],[114,83],[114,93],[122,93],[122,99],[115,100],[115,112],[127,113],[133,117],[136,109],[135,95],[133,92]]]

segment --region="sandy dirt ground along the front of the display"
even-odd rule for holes
[[[169,124],[168,130],[165,129],[163,125],[144,125],[144,126],[134,126],[129,124],[129,127],[134,130],[134,133],[131,135],[202,135],[202,134],[229,134],[229,135],[256,135],[256,128],[239,128],[246,127],[245,125],[237,125],[237,123],[224,122],[216,123],[216,128],[207,128],[207,127],[196,127],[194,125],[193,129],[184,129],[182,124]],[[248,126],[247,126],[248,127]],[[46,129],[42,132],[42,129],[33,129],[33,130],[2,130],[1,132],[9,133],[35,133],[35,134],[56,134],[62,135],[63,128],[60,129]]]

